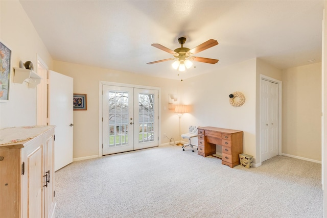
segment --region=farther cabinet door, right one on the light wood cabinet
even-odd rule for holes
[[[46,136],[45,140],[45,174],[48,174],[48,184],[44,187],[44,216],[52,217],[54,215],[54,137],[53,134]]]

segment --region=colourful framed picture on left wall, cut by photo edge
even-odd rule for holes
[[[9,101],[11,50],[0,42],[0,102]]]

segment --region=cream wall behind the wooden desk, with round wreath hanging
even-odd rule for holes
[[[183,129],[195,124],[242,130],[243,151],[252,155],[255,163],[255,83],[255,58],[184,80],[182,99],[184,104],[192,105],[193,111],[188,119],[183,120]],[[229,104],[228,95],[235,91],[245,96],[241,107]]]

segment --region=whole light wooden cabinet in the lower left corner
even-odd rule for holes
[[[54,126],[7,128],[0,138],[17,141],[0,144],[0,217],[54,217]]]

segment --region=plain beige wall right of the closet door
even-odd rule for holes
[[[321,63],[283,70],[283,154],[321,161]]]

